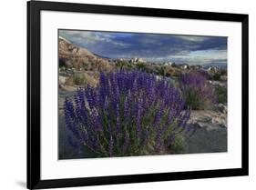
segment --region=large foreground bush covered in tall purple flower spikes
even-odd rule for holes
[[[86,85],[65,102],[69,144],[95,157],[175,152],[189,115],[165,78],[139,71],[101,73],[97,87]]]

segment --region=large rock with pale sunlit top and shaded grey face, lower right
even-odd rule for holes
[[[220,111],[192,111],[193,135],[185,135],[183,154],[227,151],[227,115]]]

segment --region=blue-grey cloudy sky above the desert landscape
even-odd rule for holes
[[[151,62],[227,64],[227,37],[59,30],[73,44],[109,58],[140,57]]]

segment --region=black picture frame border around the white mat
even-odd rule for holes
[[[65,11],[108,15],[143,15],[155,17],[241,22],[242,38],[242,154],[241,168],[174,172],[143,175],[115,175],[42,180],[40,175],[40,12]],[[249,175],[249,15],[169,10],[113,5],[86,5],[31,1],[27,2],[27,188],[54,188],[82,185],[112,185],[166,180],[184,180]]]

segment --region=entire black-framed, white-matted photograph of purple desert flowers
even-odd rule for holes
[[[27,3],[27,188],[248,175],[248,15]]]

